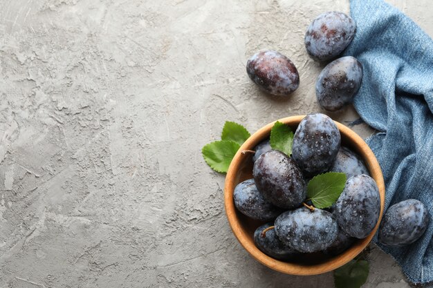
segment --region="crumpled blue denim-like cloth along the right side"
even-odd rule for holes
[[[353,105],[379,131],[367,144],[385,178],[385,211],[414,198],[430,216],[423,237],[409,246],[385,247],[377,235],[374,241],[396,259],[409,281],[433,282],[433,41],[382,0],[350,3],[357,30],[344,55],[364,67]]]

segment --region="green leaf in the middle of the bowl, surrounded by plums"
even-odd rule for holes
[[[306,195],[314,207],[323,209],[331,207],[338,200],[346,184],[346,174],[328,172],[317,175],[308,182]]]

